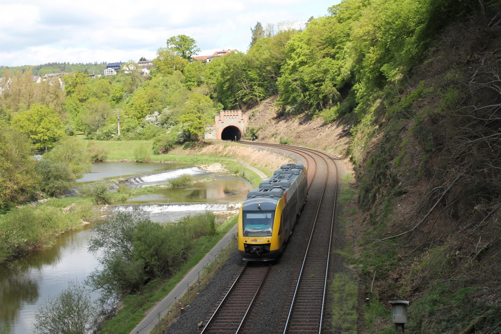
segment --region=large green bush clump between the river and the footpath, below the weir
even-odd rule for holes
[[[121,212],[93,227],[89,250],[99,256],[102,269],[87,279],[103,297],[139,290],[148,281],[172,274],[188,258],[192,243],[215,233],[215,216],[204,213],[174,224],[152,222],[141,212]]]

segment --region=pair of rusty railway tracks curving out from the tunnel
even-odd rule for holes
[[[290,274],[295,277],[295,284],[292,285],[293,288],[289,292],[284,291],[289,293],[283,305],[285,311],[281,316],[281,321],[278,325],[279,328],[274,328],[273,331],[284,334],[297,332],[320,333],[325,330],[322,327],[322,323],[326,322],[323,321],[323,314],[329,278],[330,250],[332,248],[334,208],[338,182],[336,164],[328,155],[312,149],[266,143],[242,143],[287,150],[302,156],[306,161],[309,182],[308,204],[310,209],[306,213],[308,217],[305,218],[302,215],[302,219],[307,221],[311,232],[307,245],[306,242],[301,244],[301,247],[304,249],[302,263],[301,261],[297,261],[298,265],[294,266],[294,269],[291,268]],[[305,234],[303,233],[303,235]],[[305,238],[301,239],[304,240]],[[285,252],[287,252],[287,249]],[[251,267],[259,268],[263,267],[263,265],[258,264]],[[250,268],[249,265],[246,268]],[[258,289],[253,290],[255,292],[250,292],[249,290],[247,292],[238,292],[239,289],[246,288],[250,284],[251,276],[256,276],[257,274],[249,273],[248,276],[238,276],[235,283],[232,284],[230,291],[226,294],[230,294],[231,296],[226,301],[224,300],[226,297],[223,298],[220,302],[221,309],[218,307],[213,312],[202,331],[203,333],[254,332],[252,325],[253,323],[256,324],[256,321],[259,321],[259,315],[256,315],[259,311],[256,307],[253,307],[253,302],[257,305],[266,305],[266,298],[270,290],[273,289],[273,282],[267,281],[268,270],[273,271],[273,264],[271,267],[267,266],[266,268],[267,274],[264,275],[263,280],[259,284],[260,287],[265,286],[265,291],[260,293]],[[243,271],[246,270],[248,269],[244,269]],[[270,277],[269,280],[273,280],[273,276],[273,273],[268,275]],[[245,282],[245,284],[237,283],[238,281]],[[254,278],[252,281],[253,285],[257,284],[254,283]],[[266,286],[268,287],[266,288]],[[240,293],[242,293],[241,297],[238,296]],[[246,297],[243,297],[243,294],[246,294]],[[252,298],[250,298],[251,294]],[[248,299],[249,301],[244,302],[243,299]],[[250,301],[251,299],[252,301]],[[237,305],[239,305],[238,309]],[[232,315],[225,315],[228,314],[226,312]],[[249,316],[251,319],[246,319],[249,314],[254,315]]]

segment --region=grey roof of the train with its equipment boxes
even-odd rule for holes
[[[303,172],[302,164],[286,164],[273,173],[273,176],[260,183],[258,189],[248,192],[247,198],[270,198],[279,200],[291,187],[292,182]]]

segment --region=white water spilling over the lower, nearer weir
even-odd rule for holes
[[[110,205],[113,213],[143,211],[153,221],[174,221],[190,214],[210,211],[214,213],[236,211],[241,203],[156,203],[156,204],[117,204]]]

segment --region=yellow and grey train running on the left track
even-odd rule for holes
[[[306,201],[306,168],[286,164],[247,194],[238,213],[238,252],[246,261],[275,259]]]

